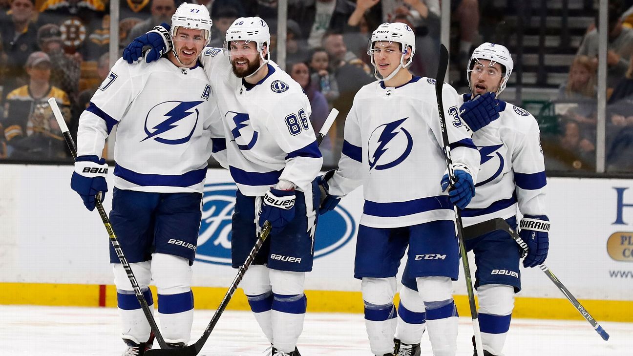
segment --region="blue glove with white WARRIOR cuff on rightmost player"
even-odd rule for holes
[[[535,267],[545,262],[549,250],[549,219],[546,215],[524,215],[519,224],[519,236],[527,243],[523,267]]]

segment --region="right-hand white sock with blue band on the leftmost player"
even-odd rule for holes
[[[158,295],[160,330],[168,343],[188,343],[194,320],[194,295],[190,291]]]

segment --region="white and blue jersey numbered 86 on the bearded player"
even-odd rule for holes
[[[301,86],[273,61],[257,84],[235,77],[222,49],[207,48],[201,61],[223,118],[229,170],[242,194],[263,196],[280,180],[310,191],[323,158]]]

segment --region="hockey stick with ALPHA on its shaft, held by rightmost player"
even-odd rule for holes
[[[508,224],[508,222],[506,222],[506,220],[503,220],[500,217],[496,219],[480,222],[479,224],[475,224],[473,226],[469,226],[465,228],[464,231],[467,232],[467,234],[470,236],[481,236],[483,234],[496,231],[496,230],[502,230],[502,231],[508,232],[508,234],[510,234],[510,237],[514,241],[517,241],[518,245],[521,246],[523,253],[527,254],[527,243],[525,243],[525,241],[523,241],[521,236],[519,236],[519,234],[517,234],[517,232],[512,227],[510,227],[510,225]],[[578,310],[580,315],[582,315],[582,317],[584,317],[589,322],[589,324],[591,324],[591,326],[594,327],[594,330],[596,330],[596,333],[598,333],[600,337],[603,338],[603,340],[605,341],[609,340],[609,334],[606,333],[605,329],[603,329],[602,326],[598,324],[596,319],[594,319],[591,316],[591,314],[587,312],[587,309],[584,308],[582,304],[580,304],[580,302],[578,302],[578,300],[572,295],[570,291],[568,291],[567,288],[565,288],[563,283],[559,281],[558,278],[556,278],[554,273],[544,264],[540,264],[539,268],[543,271],[544,274],[546,274],[549,277],[552,283],[554,283],[556,287],[560,289],[563,295],[567,297],[567,300],[569,300],[569,302],[572,303],[572,305],[576,308],[576,310]]]

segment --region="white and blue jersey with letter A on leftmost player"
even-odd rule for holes
[[[203,68],[116,61],[80,117],[78,155],[101,157],[115,125],[116,188],[203,191],[210,138],[224,137]]]

